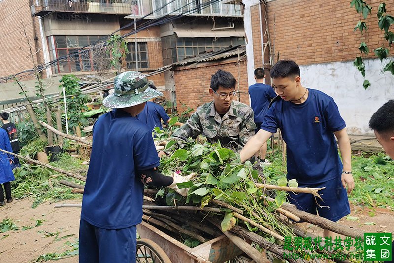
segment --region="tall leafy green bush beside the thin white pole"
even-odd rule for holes
[[[79,79],[72,74],[62,77],[60,83],[66,91],[67,119],[68,127],[72,129],[75,126],[87,126],[89,121],[84,117],[82,111],[86,111],[85,104],[90,101],[88,95],[82,94]]]

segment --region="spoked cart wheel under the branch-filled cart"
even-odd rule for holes
[[[136,257],[138,263],[172,263],[158,244],[146,238],[137,240]]]

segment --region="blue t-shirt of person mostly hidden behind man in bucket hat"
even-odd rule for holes
[[[161,130],[163,129],[162,119],[165,122],[169,120],[167,113],[165,113],[164,108],[159,104],[156,104],[152,101],[146,102],[146,105],[141,113],[137,115],[137,118],[144,124],[146,124],[151,131],[155,127],[159,127]]]

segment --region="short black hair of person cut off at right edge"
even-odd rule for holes
[[[394,100],[389,100],[373,113],[369,128],[378,133],[394,133]]]

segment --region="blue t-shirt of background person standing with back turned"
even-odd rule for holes
[[[255,122],[263,122],[268,105],[271,99],[276,97],[271,86],[263,83],[256,83],[249,87],[251,107],[253,109]]]

